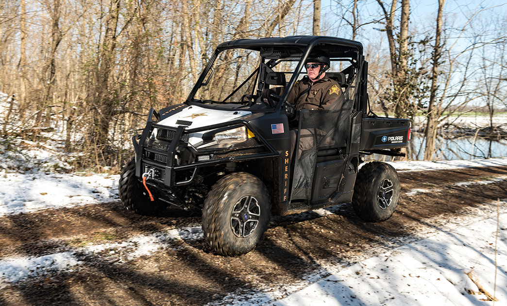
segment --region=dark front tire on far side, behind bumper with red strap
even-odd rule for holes
[[[146,188],[135,176],[134,158],[123,168],[118,183],[118,191],[125,208],[139,215],[157,215],[166,208],[166,205],[157,201],[157,199],[150,200]]]

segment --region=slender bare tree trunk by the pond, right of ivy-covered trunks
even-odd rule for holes
[[[442,46],[440,43],[440,37],[442,35],[442,15],[444,11],[445,0],[439,0],[439,9],[437,14],[437,29],[435,32],[435,45],[433,47],[432,62],[433,66],[431,69],[431,88],[429,94],[428,114],[426,121],[426,129],[424,131],[424,137],[426,138],[426,146],[424,148],[424,159],[432,160],[435,153],[435,141],[437,139],[437,126],[440,118],[440,112],[438,108],[435,108],[435,100],[438,89],[438,75],[439,75],[439,61],[442,55]]]

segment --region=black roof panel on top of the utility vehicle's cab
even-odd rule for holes
[[[261,39],[238,39],[234,41],[224,42],[217,49],[244,48],[260,51],[262,48],[286,48],[299,47],[302,50],[307,46],[313,45],[318,47],[341,46],[343,49],[357,49],[359,53],[363,53],[363,44],[337,37],[330,36],[287,36],[287,37],[271,37]]]

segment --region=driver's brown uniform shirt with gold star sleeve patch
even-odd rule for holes
[[[275,88],[275,91],[283,93],[284,88]],[[307,92],[304,92],[310,88]],[[328,77],[317,80],[315,83],[310,81],[308,76],[296,81],[294,88],[287,97],[287,101],[294,105],[296,111],[302,109],[323,110],[330,107],[343,94],[343,88]]]

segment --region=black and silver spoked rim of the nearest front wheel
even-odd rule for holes
[[[248,237],[257,228],[260,217],[261,207],[259,201],[251,195],[244,196],[232,210],[232,231],[238,237]]]

